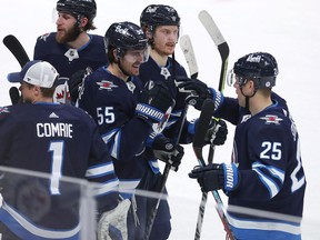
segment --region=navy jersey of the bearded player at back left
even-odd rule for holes
[[[103,37],[89,34],[90,41],[80,49],[72,49],[68,44],[58,43],[56,32],[38,37],[33,59],[50,62],[59,72],[56,82],[53,100],[68,103],[70,101],[68,79],[77,71],[90,67],[93,71],[108,64]]]

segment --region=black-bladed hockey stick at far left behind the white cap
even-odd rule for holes
[[[23,66],[30,60],[24,48],[14,36],[12,34],[6,36],[3,38],[3,44],[14,56],[21,68],[23,68]],[[17,87],[10,88],[9,96],[12,104],[17,104],[20,102],[20,94]]]

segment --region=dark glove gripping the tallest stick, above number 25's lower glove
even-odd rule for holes
[[[208,129],[204,138],[207,144],[222,146],[227,140],[228,128],[223,120],[212,120],[211,127]]]

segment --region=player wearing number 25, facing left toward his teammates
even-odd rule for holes
[[[203,192],[222,189],[229,197],[227,216],[236,239],[301,239],[306,177],[296,124],[286,102],[271,92],[277,74],[270,53],[253,52],[229,74],[237,99],[218,99],[221,93],[211,89],[214,116],[237,126],[232,162],[189,173]]]

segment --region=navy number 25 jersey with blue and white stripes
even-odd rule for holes
[[[229,209],[248,208],[248,214],[228,212],[237,239],[301,239],[306,177],[299,136],[286,101],[274,92],[272,100],[272,106],[251,116],[236,99],[226,98],[214,114],[237,124],[232,162],[240,183],[228,192]],[[251,216],[250,209],[262,210],[263,217]],[[272,219],[272,213],[292,219]]]

